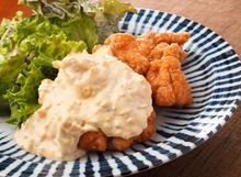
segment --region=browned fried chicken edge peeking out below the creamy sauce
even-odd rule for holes
[[[140,135],[130,137],[128,140],[122,137],[107,137],[102,131],[87,132],[79,139],[78,147],[85,151],[124,151],[129,148],[130,145],[137,142],[148,141],[156,132],[154,125],[154,111],[147,120],[147,128],[140,133]]]

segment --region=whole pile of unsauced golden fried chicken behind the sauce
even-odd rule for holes
[[[187,32],[150,32],[137,37],[116,33],[107,37],[104,45],[110,45],[114,56],[146,77],[158,106],[183,107],[193,101],[192,89],[181,70],[187,56],[181,45],[188,38]]]

